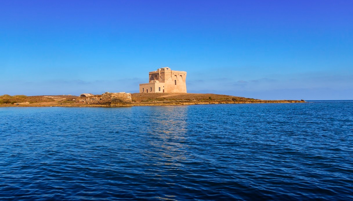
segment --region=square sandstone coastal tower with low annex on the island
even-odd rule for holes
[[[140,93],[186,93],[186,72],[169,67],[149,72],[149,83],[140,84]]]

